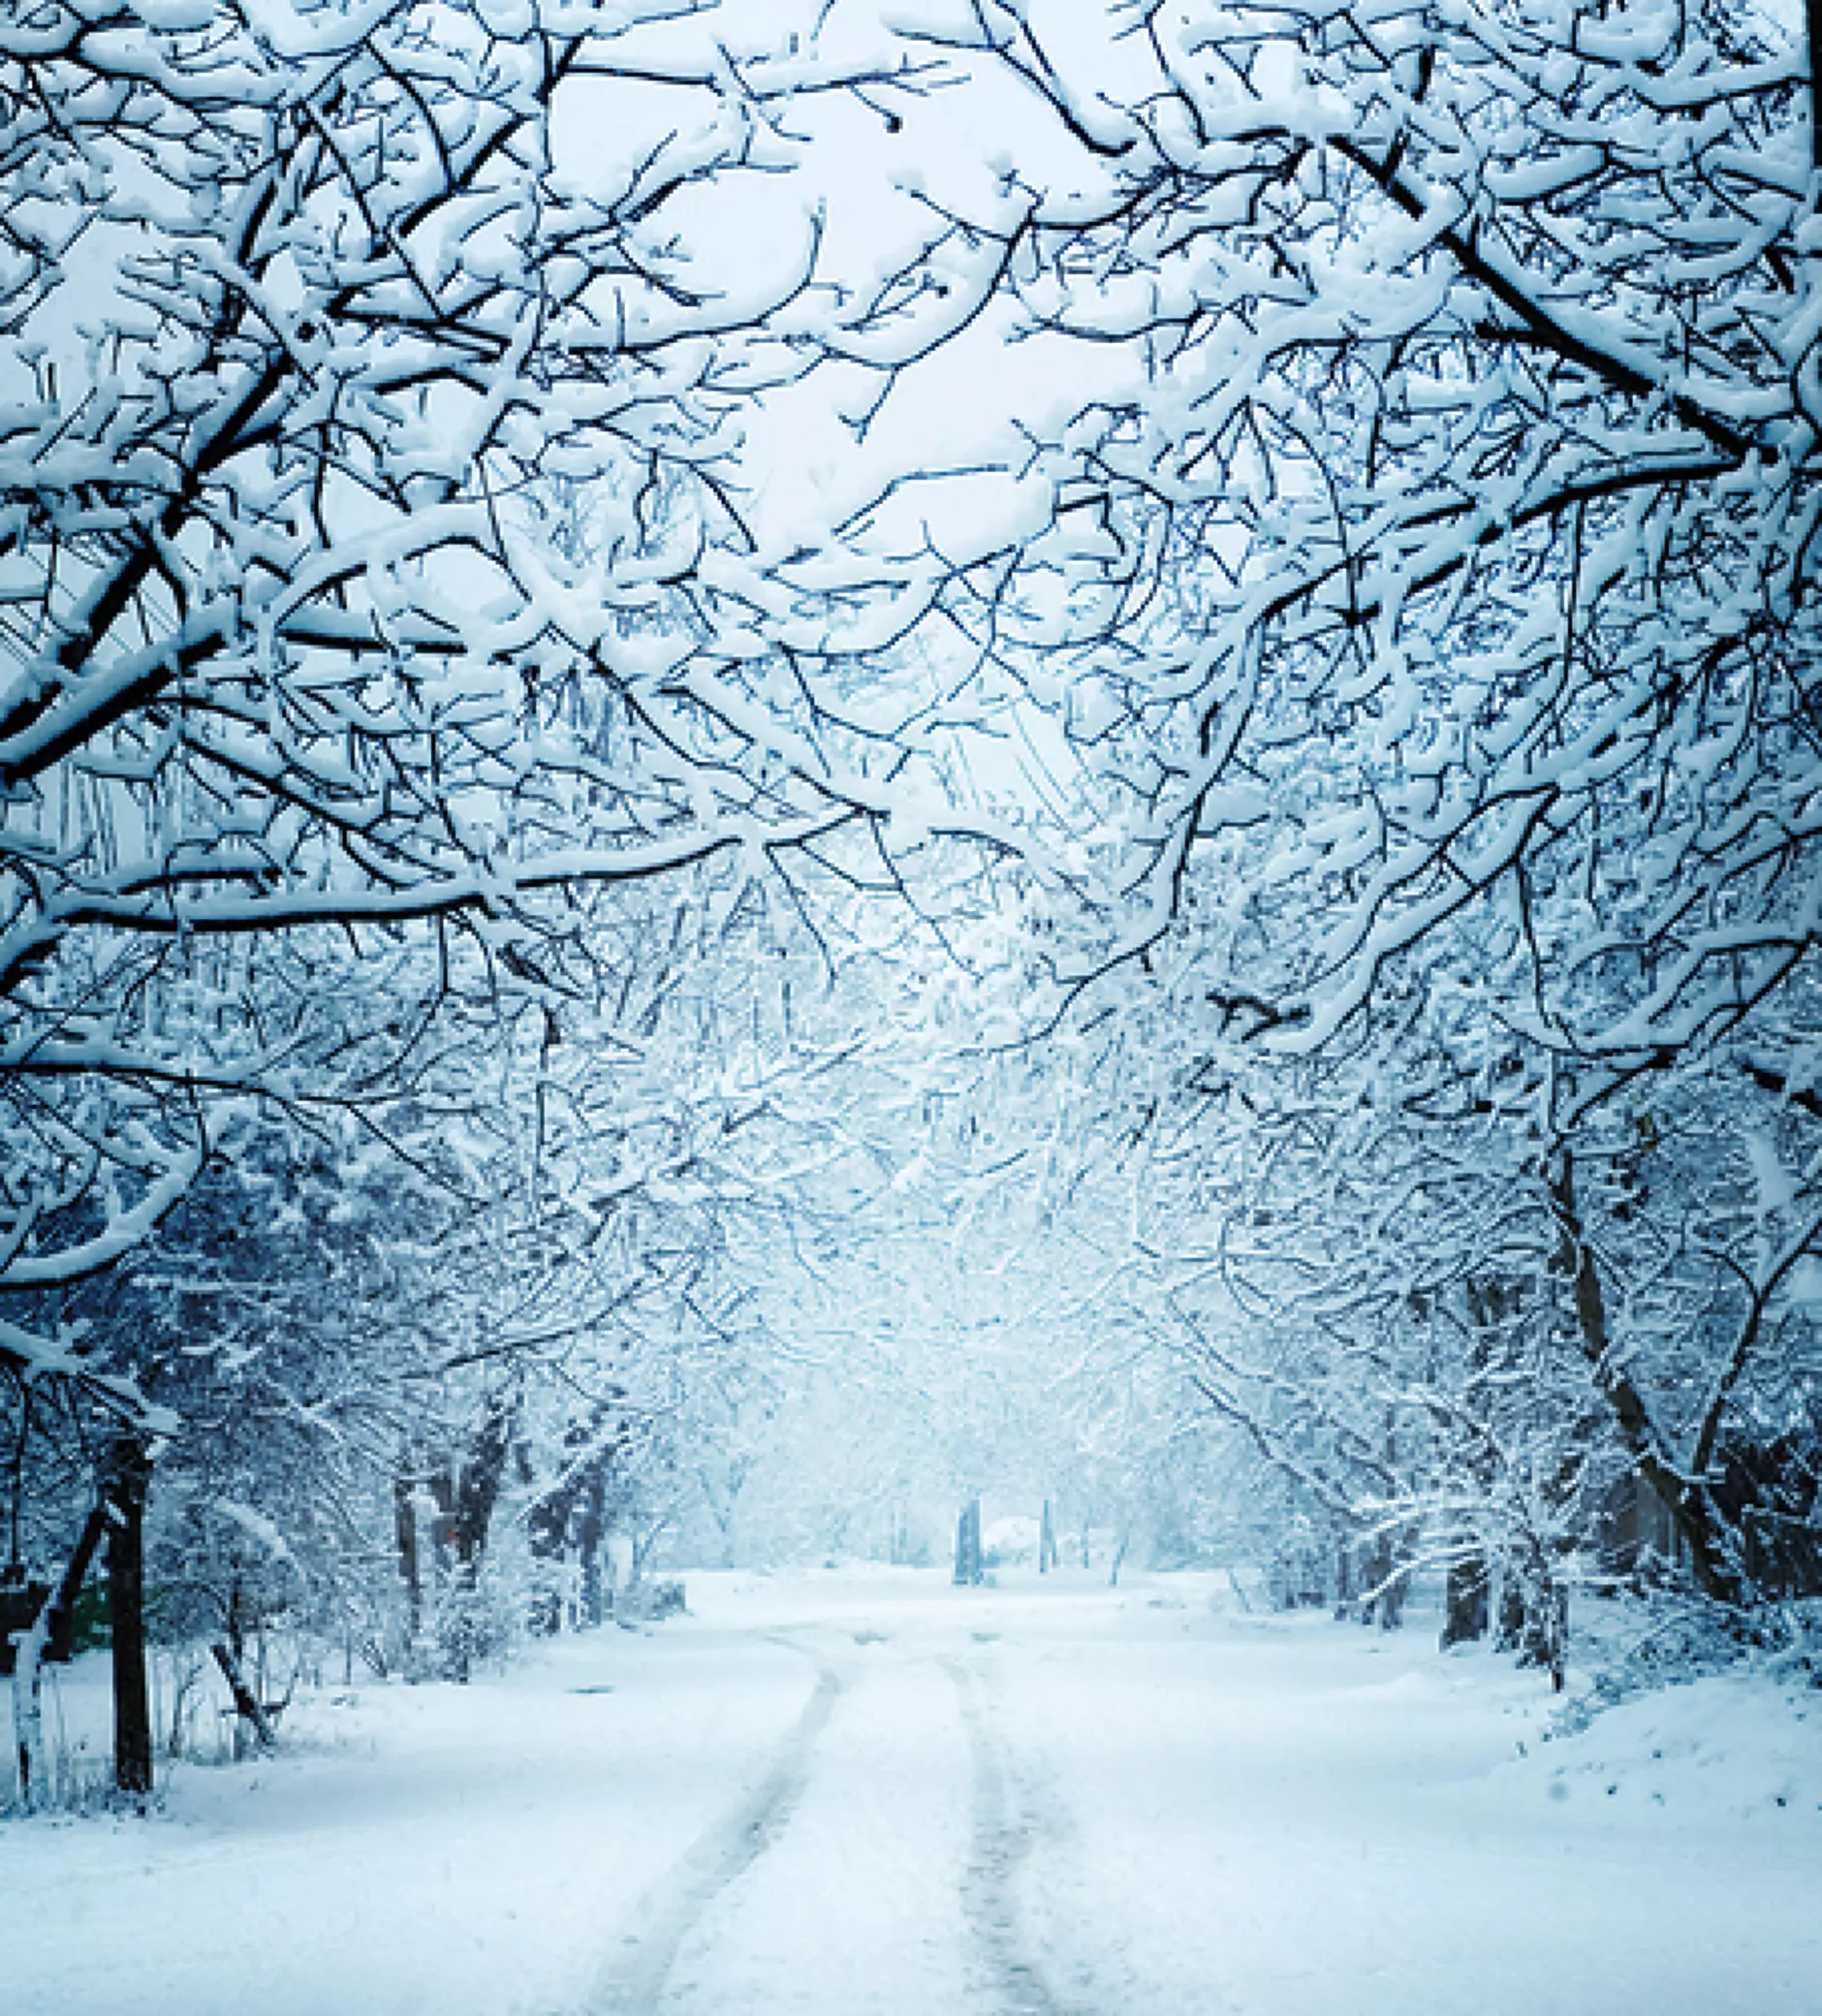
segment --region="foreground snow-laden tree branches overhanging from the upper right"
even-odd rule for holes
[[[1054,520],[975,635],[1123,766],[1115,950],[1205,875],[1211,994],[1296,1052],[1491,911],[1580,1101],[1772,1006],[1814,887],[1802,42],[1528,0],[982,0],[915,40],[1072,145],[929,246],[1052,369]]]

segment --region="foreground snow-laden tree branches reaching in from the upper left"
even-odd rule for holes
[[[320,927],[536,988],[564,891],[885,816],[903,750],[768,655],[732,452],[820,314],[792,109],[917,89],[667,4],[14,10],[8,1286],[143,1236],[210,1095],[345,1054]]]

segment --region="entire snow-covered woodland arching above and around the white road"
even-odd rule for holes
[[[1818,42],[8,6],[18,1800],[1008,1478],[1808,1657]]]

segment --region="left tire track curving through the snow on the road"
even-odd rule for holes
[[[810,1778],[816,1738],[826,1728],[844,1681],[808,1647],[786,1637],[772,1637],[770,1643],[812,1659],[816,1687],[762,1784],[738,1812],[701,1835],[663,1883],[643,1899],[637,1917],[645,1929],[633,1935],[629,1951],[609,1964],[589,2000],[589,2016],[655,2016],[683,1941],[722,1891],[744,1877],[790,1824]]]

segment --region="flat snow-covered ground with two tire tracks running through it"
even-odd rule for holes
[[[329,1689],[163,1818],[0,1826],[0,2008],[1822,2016],[1822,1693],[1540,1742],[1504,1661],[1211,1595],[699,1577]]]

